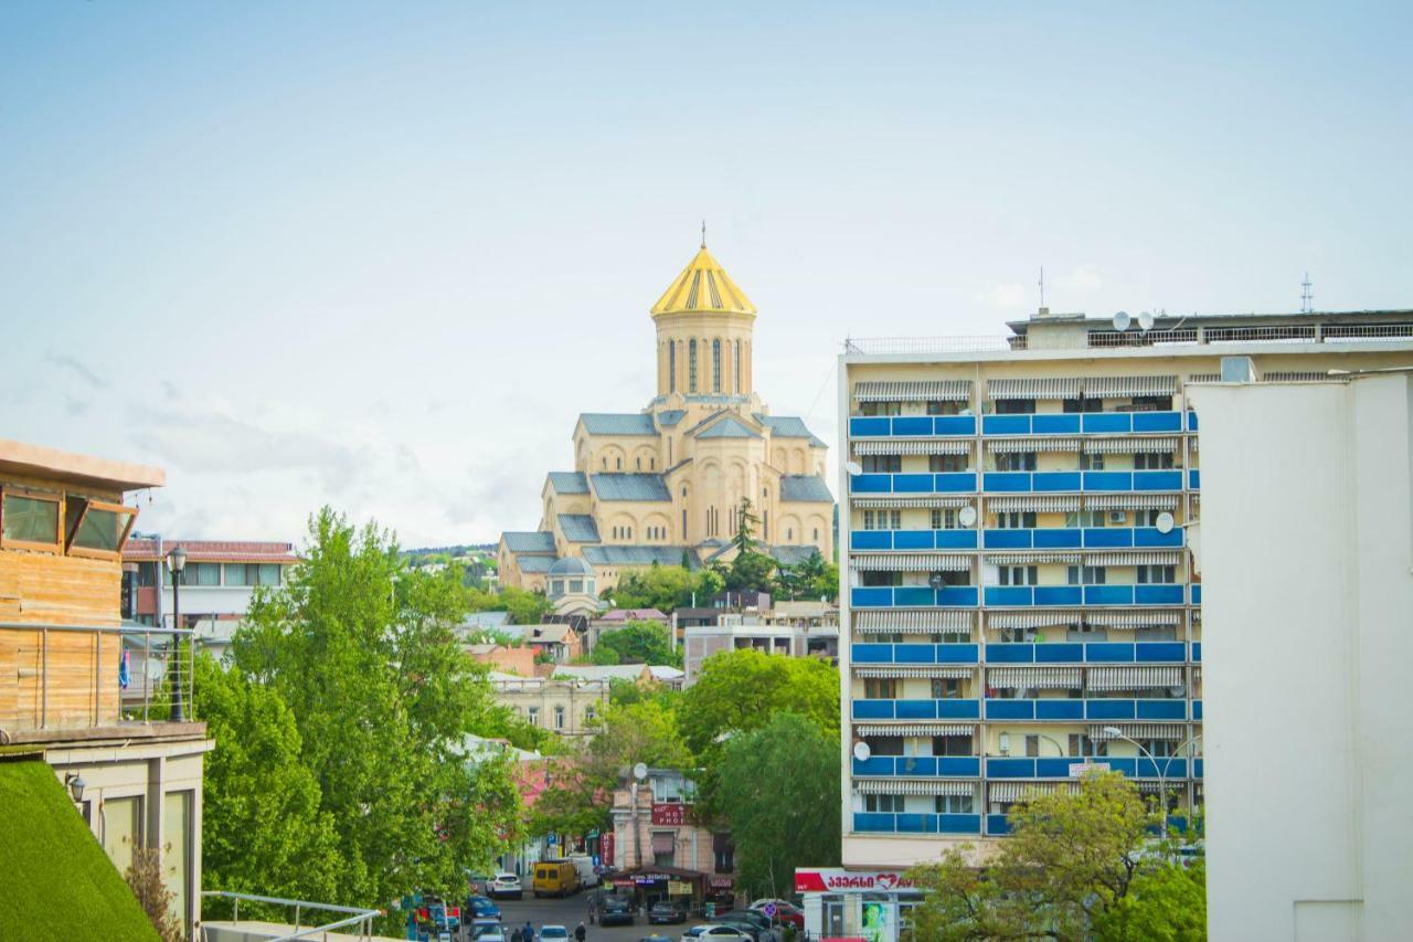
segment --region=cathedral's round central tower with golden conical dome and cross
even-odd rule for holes
[[[653,306],[657,395],[749,397],[756,306],[702,246]]]

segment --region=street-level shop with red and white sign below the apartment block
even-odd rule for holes
[[[829,942],[897,942],[921,894],[900,870],[796,870],[796,892],[804,898],[810,938]]]

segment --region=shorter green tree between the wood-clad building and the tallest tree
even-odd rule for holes
[[[280,694],[196,659],[195,710],[216,748],[202,782],[202,881],[233,892],[332,901],[341,867],[304,743]],[[219,909],[220,901],[211,907]]]

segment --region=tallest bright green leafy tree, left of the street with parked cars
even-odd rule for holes
[[[328,508],[302,556],[281,591],[256,593],[232,659],[294,716],[338,839],[335,898],[458,891],[519,822],[509,768],[463,750],[495,719],[485,673],[452,634],[468,593],[406,570],[390,535]]]

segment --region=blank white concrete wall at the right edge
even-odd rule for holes
[[[1188,392],[1211,938],[1407,938],[1409,378]]]

